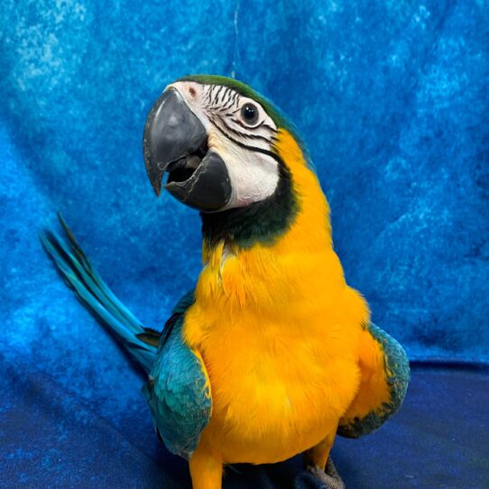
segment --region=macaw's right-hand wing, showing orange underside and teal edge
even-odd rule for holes
[[[410,382],[410,363],[402,346],[374,323],[364,327],[358,364],[360,387],[337,429],[346,438],[380,428],[401,408]]]

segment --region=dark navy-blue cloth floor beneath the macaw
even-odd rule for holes
[[[15,398],[0,415],[2,488],[190,489],[187,463],[158,442],[143,397],[115,421],[50,375],[5,364],[0,394]],[[332,457],[347,489],[486,489],[488,404],[489,371],[416,368],[401,412],[369,437],[337,438]],[[295,457],[228,467],[224,489],[323,487]]]

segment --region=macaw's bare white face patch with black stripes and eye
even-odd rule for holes
[[[232,88],[178,81],[176,88],[208,132],[208,151],[225,161],[233,193],[226,208],[242,208],[272,196],[279,163],[272,156],[277,127],[263,107]]]

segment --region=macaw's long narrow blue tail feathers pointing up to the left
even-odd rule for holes
[[[41,233],[41,242],[58,271],[82,304],[125,346],[146,372],[150,372],[160,334],[144,328],[125,308],[88,262],[75,236],[59,215],[65,237],[51,230]]]

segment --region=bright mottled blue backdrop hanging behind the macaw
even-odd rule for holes
[[[134,438],[151,429],[140,376],[37,235],[60,210],[120,299],[161,327],[197,277],[199,220],[152,194],[142,132],[188,73],[235,74],[290,116],[346,278],[411,358],[489,362],[487,1],[3,0],[0,42],[7,371],[47,375]]]

